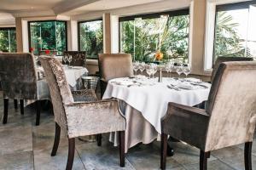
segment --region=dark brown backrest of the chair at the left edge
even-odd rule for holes
[[[28,53],[0,54],[0,79],[9,99],[37,99],[34,59]]]

